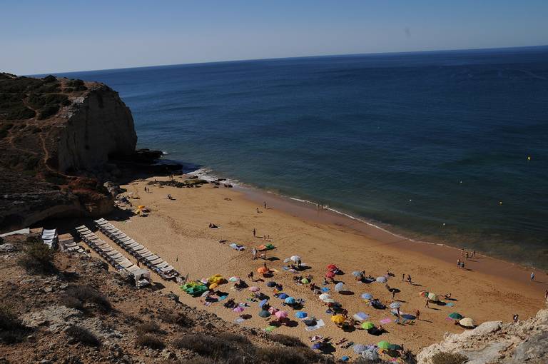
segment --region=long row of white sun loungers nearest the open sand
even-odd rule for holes
[[[152,271],[158,273],[161,278],[165,280],[178,280],[179,273],[175,270],[175,268],[173,268],[173,266],[166,263],[166,261],[159,256],[156,256],[156,254],[148,251],[147,248],[134,241],[132,238],[123,233],[123,231],[116,228],[116,226],[113,226],[104,218],[96,220],[95,223],[99,231],[108,236],[108,238],[111,238],[112,241],[118,244],[118,246],[130,253],[138,261],[145,264]]]

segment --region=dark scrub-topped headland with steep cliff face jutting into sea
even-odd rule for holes
[[[0,231],[113,208],[111,156],[134,153],[129,108],[108,86],[0,74]]]

